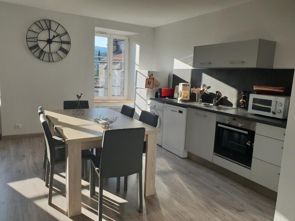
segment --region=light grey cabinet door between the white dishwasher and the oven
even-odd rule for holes
[[[185,150],[212,162],[217,114],[187,109]]]

